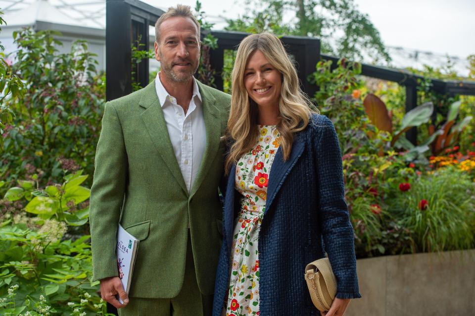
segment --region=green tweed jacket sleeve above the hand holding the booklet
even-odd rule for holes
[[[116,109],[106,103],[90,199],[93,279],[117,276],[117,226],[124,201],[127,153]]]

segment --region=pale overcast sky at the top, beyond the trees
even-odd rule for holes
[[[195,0],[142,0],[166,9]],[[244,13],[244,0],[201,0],[210,20]],[[355,0],[387,46],[466,58],[475,54],[475,0]],[[221,25],[223,25],[221,23]]]

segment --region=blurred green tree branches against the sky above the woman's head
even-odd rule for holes
[[[389,62],[380,34],[353,0],[248,0],[247,12],[228,20],[227,30],[322,39],[322,53],[357,60],[364,55]],[[285,16],[294,14],[290,21]],[[335,35],[342,34],[340,37]]]

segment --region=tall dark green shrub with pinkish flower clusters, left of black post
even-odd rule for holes
[[[18,50],[11,69],[25,82],[25,94],[6,101],[16,114],[3,135],[0,178],[7,182],[57,182],[62,169],[94,170],[104,85],[87,44],[77,41],[70,53],[58,53],[56,35],[31,29],[13,34]]]

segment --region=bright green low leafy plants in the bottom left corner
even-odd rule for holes
[[[0,200],[1,315],[106,315],[84,234],[87,177],[78,171],[45,188],[18,181]]]

